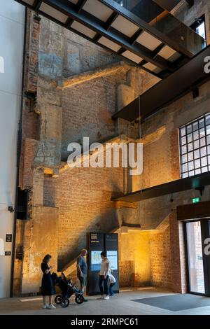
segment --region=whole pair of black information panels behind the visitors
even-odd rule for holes
[[[111,262],[112,274],[116,278],[114,291],[119,292],[118,269],[118,234],[89,233],[87,235],[88,246],[88,279],[87,294],[98,295],[99,271],[101,268],[101,252],[107,251],[107,257]]]

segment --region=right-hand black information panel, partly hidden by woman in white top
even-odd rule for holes
[[[111,274],[116,278],[113,290],[119,293],[119,260],[118,260],[118,234],[111,233],[104,235],[107,258],[111,262]]]

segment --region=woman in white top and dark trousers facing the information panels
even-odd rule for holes
[[[99,272],[99,288],[101,291],[101,296],[104,300],[109,300],[109,274],[110,271],[110,262],[107,258],[106,251],[101,253],[102,264],[101,270]]]

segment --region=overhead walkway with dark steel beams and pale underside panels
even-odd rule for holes
[[[161,79],[205,45],[168,11],[178,0],[16,1]]]

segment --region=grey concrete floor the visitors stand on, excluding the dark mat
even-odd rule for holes
[[[129,288],[127,288],[129,289]],[[199,307],[197,309],[187,309],[184,311],[168,311],[150,305],[132,302],[132,300],[146,297],[156,297],[161,295],[174,295],[169,291],[160,288],[144,288],[141,290],[132,289],[121,292],[110,300],[99,300],[98,296],[88,297],[88,302],[78,305],[71,299],[71,304],[66,309],[41,309],[42,301],[40,297],[30,298],[6,298],[0,299],[0,314],[5,315],[207,315],[210,314],[210,307]]]

